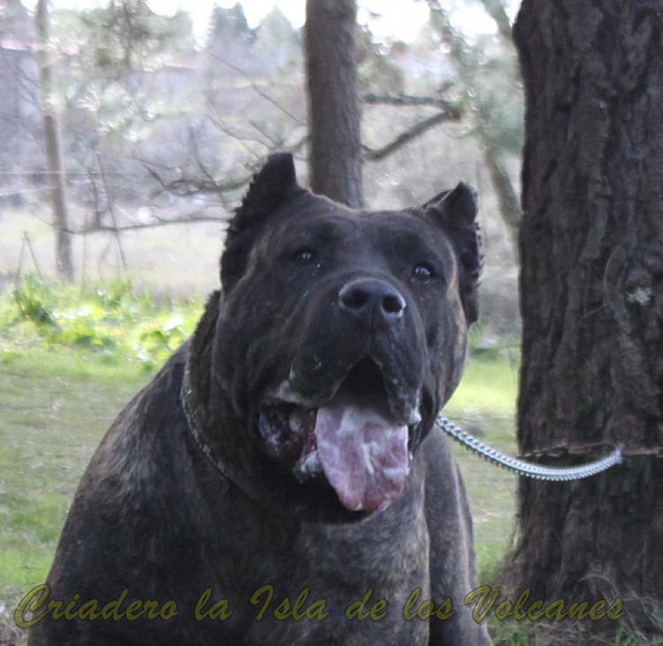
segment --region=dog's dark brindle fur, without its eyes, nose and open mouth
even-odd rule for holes
[[[179,614],[168,621],[43,619],[30,631],[30,646],[489,643],[485,627],[462,603],[476,586],[471,519],[448,442],[433,425],[460,379],[467,325],[476,317],[476,209],[467,188],[447,198],[441,194],[409,211],[358,213],[299,188],[289,156],[271,159],[229,229],[223,292],[210,296],[192,340],[103,438],[48,577],[52,598],[65,602],[79,594],[81,604],[103,604],[127,588],[126,604],[172,599]],[[408,288],[392,250],[384,249],[388,236],[363,224],[373,217],[391,231],[421,230],[432,240],[441,250],[446,286],[416,294]],[[303,279],[296,273],[279,277],[279,241],[306,239],[314,220],[341,227],[335,269]],[[338,290],[329,276],[346,269],[348,275],[378,273],[400,286],[411,311],[398,334],[366,332],[325,309],[324,294]],[[251,430],[265,388],[286,381],[293,365],[293,388],[316,396],[331,387],[331,378],[316,378],[309,358],[319,355],[325,374],[342,372],[363,351],[354,347],[357,339],[367,338],[383,360],[391,353],[402,364],[400,388],[421,382],[427,393],[406,488],[386,511],[372,514],[347,511],[331,488],[299,484],[265,456]],[[186,364],[192,404],[224,474],[187,426],[179,400]],[[260,606],[248,599],[267,583],[274,601],[258,621]],[[324,599],[330,615],[275,619],[280,599],[294,600],[305,587],[307,603]],[[229,600],[229,619],[194,619],[206,588],[208,608]],[[402,608],[415,588],[436,604],[450,597],[453,617],[405,621]],[[347,604],[369,589],[370,603],[387,600],[385,619],[346,619]]]

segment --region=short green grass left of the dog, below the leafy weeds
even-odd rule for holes
[[[0,623],[48,572],[80,475],[145,380],[66,348],[0,360]]]

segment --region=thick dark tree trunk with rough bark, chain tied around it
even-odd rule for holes
[[[587,481],[521,481],[512,581],[545,599],[621,596],[641,635],[663,620],[661,26],[661,0],[524,0],[514,28],[527,107],[518,439],[548,460],[613,442],[627,455]],[[581,626],[617,630],[562,622],[553,642],[579,643],[563,632]]]

